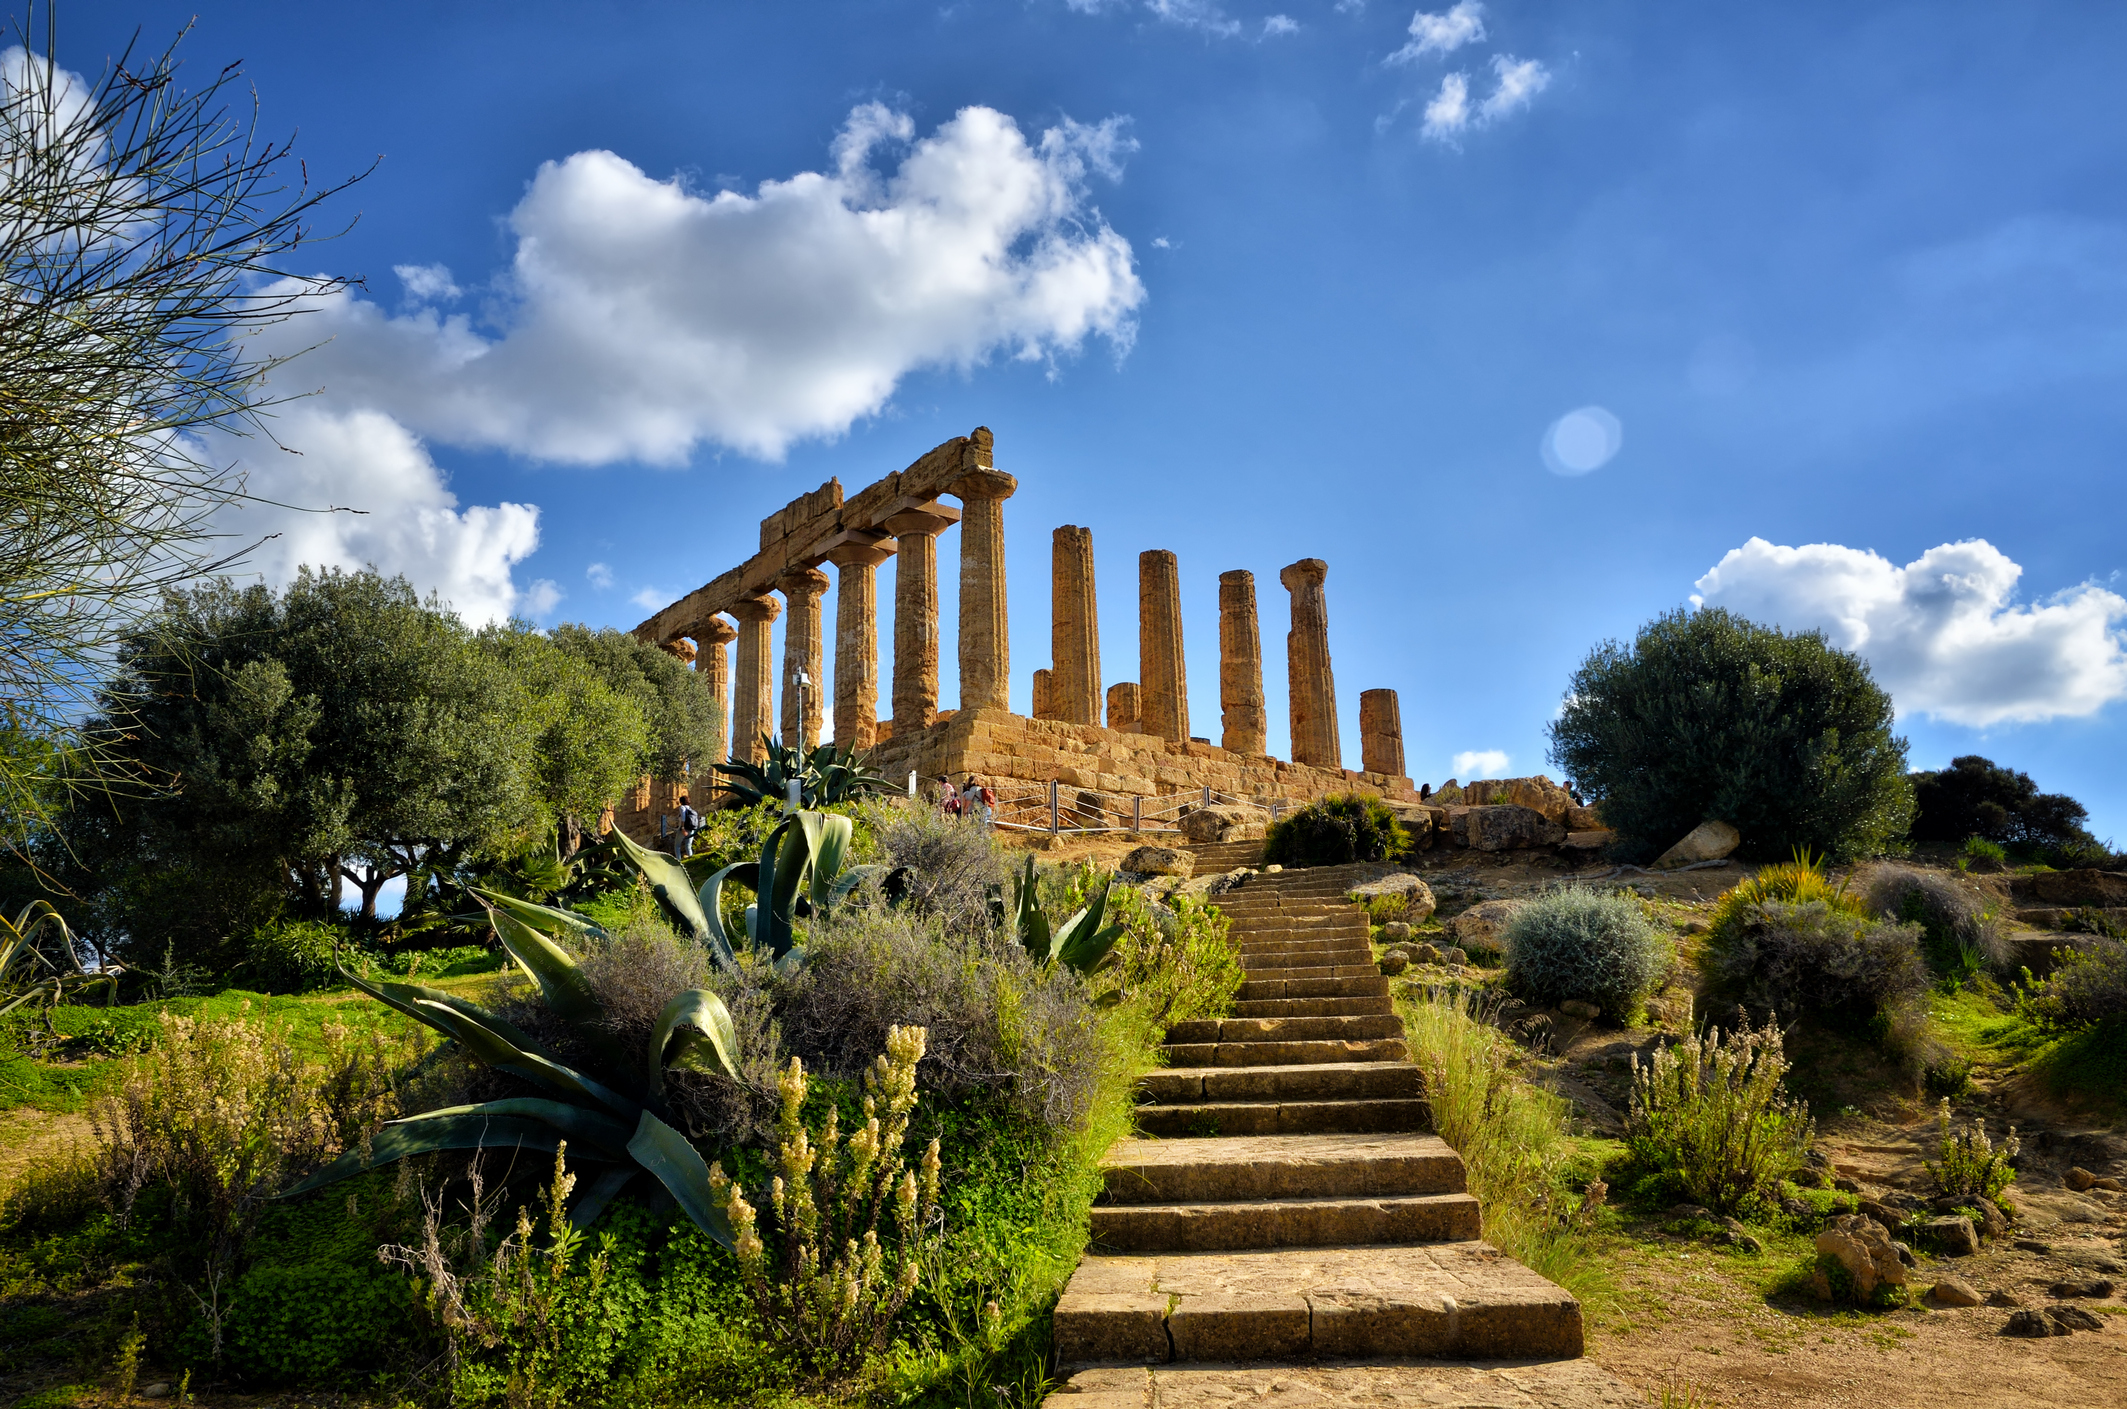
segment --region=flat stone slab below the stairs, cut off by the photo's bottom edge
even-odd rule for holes
[[[1042,1409],[1644,1409],[1593,1360],[1349,1360],[1085,1369]]]

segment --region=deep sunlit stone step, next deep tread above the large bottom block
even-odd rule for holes
[[[1104,1205],[1461,1194],[1459,1154],[1438,1134],[1280,1134],[1117,1141],[1102,1158]]]

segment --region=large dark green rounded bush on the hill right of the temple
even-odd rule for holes
[[[1872,853],[1906,834],[1912,785],[1891,696],[1850,651],[1721,609],[1674,611],[1574,673],[1551,760],[1644,860],[1708,817],[1753,860]]]

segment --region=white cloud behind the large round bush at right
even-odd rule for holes
[[[2093,715],[2127,696],[2127,598],[2093,583],[2016,602],[2023,568],[1984,538],[1897,566],[1838,543],[1751,538],[1693,604],[1823,630],[1870,662],[1899,713],[1967,726]]]

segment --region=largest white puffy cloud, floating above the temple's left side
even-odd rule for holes
[[[898,168],[876,170],[895,147]],[[540,166],[508,217],[500,330],[347,292],[285,338],[332,336],[302,375],[334,402],[451,445],[674,464],[719,443],[776,460],[876,413],[923,366],[1042,360],[1089,336],[1127,347],[1144,285],[1085,181],[1132,147],[1117,119],[1027,140],[981,106],[915,140],[906,115],[868,102],[832,170],[751,196],[581,151]]]

